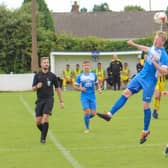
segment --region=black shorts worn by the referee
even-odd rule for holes
[[[51,115],[54,105],[54,98],[40,99],[36,101],[36,117],[43,116],[43,114]]]

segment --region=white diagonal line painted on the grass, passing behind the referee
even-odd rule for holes
[[[34,111],[29,106],[29,104],[26,102],[24,97],[20,95],[20,101],[23,103],[27,111],[34,117]],[[70,162],[73,168],[82,168],[82,166],[79,164],[79,162],[71,155],[70,151],[67,150],[56,138],[56,136],[52,133],[52,131],[48,131],[48,136],[55,145],[56,148],[59,149],[59,151],[64,155],[65,159]]]

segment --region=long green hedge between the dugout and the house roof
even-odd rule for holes
[[[153,37],[135,40],[136,42],[150,46]],[[135,48],[128,46],[126,40],[107,40],[97,37],[77,38],[72,35],[57,35],[55,48],[57,51],[130,51]]]

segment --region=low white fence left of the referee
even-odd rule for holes
[[[0,75],[0,91],[27,91],[32,89],[34,74]]]

